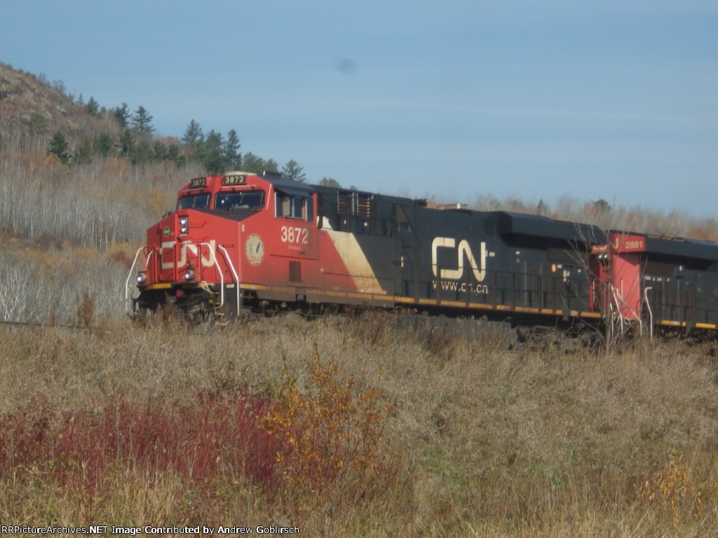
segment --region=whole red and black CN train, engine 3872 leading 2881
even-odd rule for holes
[[[718,244],[236,171],[180,189],[147,230],[125,298],[134,315],[367,306],[715,331]]]

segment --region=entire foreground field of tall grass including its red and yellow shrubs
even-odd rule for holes
[[[521,346],[391,315],[0,327],[0,520],[709,537],[712,344]]]

